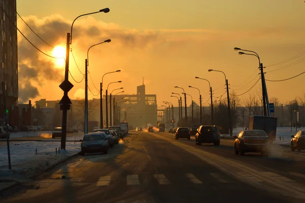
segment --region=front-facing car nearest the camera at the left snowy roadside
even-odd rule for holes
[[[94,132],[85,134],[81,141],[81,155],[85,153],[108,153],[108,142],[106,141],[106,134],[104,132]]]

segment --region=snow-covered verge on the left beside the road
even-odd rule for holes
[[[0,146],[0,174],[1,177],[25,176],[33,177],[46,168],[80,152],[82,135],[68,137],[66,142],[66,153],[61,150],[60,139],[42,139],[38,141],[10,142],[10,153],[12,170],[8,167],[8,152],[6,142]],[[57,154],[56,149],[57,148]],[[37,149],[37,154],[36,154]]]

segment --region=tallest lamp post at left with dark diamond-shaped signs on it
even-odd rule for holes
[[[91,15],[95,13],[108,13],[110,9],[105,8],[101,9],[97,12],[93,13],[87,13],[78,16],[75,18],[71,25],[71,32],[67,33],[67,43],[66,43],[66,65],[65,65],[65,80],[62,84],[59,85],[59,87],[64,91],[63,98],[59,101],[60,110],[63,110],[63,119],[62,119],[62,136],[60,139],[60,149],[66,149],[66,137],[67,137],[67,111],[71,108],[71,100],[68,96],[68,92],[73,88],[73,84],[69,82],[69,57],[70,57],[70,44],[72,44],[72,31],[73,31],[73,24],[76,19],[82,16]]]

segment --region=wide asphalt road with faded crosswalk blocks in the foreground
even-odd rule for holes
[[[107,155],[77,156],[1,202],[305,201],[302,153],[239,156],[232,143],[196,146],[170,133],[132,132]]]

